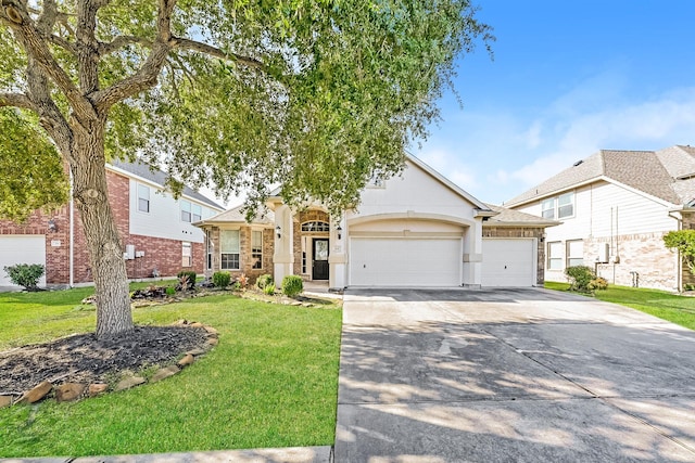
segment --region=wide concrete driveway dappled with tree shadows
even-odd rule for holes
[[[334,461],[695,461],[695,332],[544,290],[349,291]]]

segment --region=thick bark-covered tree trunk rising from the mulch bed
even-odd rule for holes
[[[73,120],[74,123],[74,120]],[[74,129],[71,170],[73,196],[83,219],[97,298],[97,337],[132,331],[130,295],[123,248],[109,203],[103,120]]]

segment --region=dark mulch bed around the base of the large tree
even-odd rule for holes
[[[18,347],[0,352],[0,394],[18,394],[42,381],[106,383],[119,372],[170,363],[187,350],[205,346],[206,339],[203,327],[136,326],[115,339],[78,334]]]

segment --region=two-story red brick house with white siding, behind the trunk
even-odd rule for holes
[[[222,206],[189,188],[175,200],[162,190],[165,173],[144,164],[114,162],[106,165],[106,180],[129,279],[203,272],[203,233],[191,223]],[[54,213],[36,211],[25,223],[0,221],[0,286],[12,286],[2,269],[14,263],[45,265],[40,285],[91,282],[77,208],[68,203]]]

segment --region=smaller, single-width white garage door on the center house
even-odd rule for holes
[[[482,281],[488,286],[535,284],[534,240],[482,240]]]

